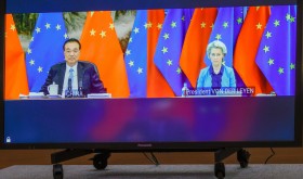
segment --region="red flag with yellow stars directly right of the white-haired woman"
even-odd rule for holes
[[[269,7],[249,8],[234,53],[235,69],[247,87],[255,88],[256,94],[273,91],[255,63],[259,44],[269,14]]]

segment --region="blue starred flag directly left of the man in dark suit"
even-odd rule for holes
[[[26,52],[29,91],[38,92],[52,65],[64,61],[63,43],[68,38],[62,13],[40,13]]]

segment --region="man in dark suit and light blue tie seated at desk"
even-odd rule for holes
[[[90,62],[79,61],[81,43],[78,39],[66,40],[63,50],[65,62],[51,67],[40,92],[49,94],[48,87],[52,84],[58,85],[58,94],[63,95],[68,88],[74,91],[81,89],[83,94],[106,92],[96,66]]]

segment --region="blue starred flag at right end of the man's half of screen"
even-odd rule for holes
[[[126,66],[130,87],[130,97],[146,97],[147,79],[147,11],[136,11],[134,25],[126,51]]]

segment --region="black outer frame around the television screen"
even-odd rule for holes
[[[205,149],[218,149],[218,148],[288,148],[288,146],[302,146],[302,114],[300,111],[302,110],[302,102],[303,102],[303,88],[302,88],[302,79],[303,79],[303,66],[302,66],[302,7],[303,2],[299,0],[254,0],[254,1],[238,1],[238,0],[213,0],[213,1],[196,1],[196,0],[154,0],[154,1],[146,1],[144,4],[141,4],[141,0],[129,0],[128,5],[121,3],[121,1],[113,0],[110,2],[104,2],[102,0],[78,0],[78,4],[75,5],[73,10],[78,9],[79,11],[87,11],[91,10],[87,3],[92,3],[91,7],[98,7],[95,10],[130,10],[130,9],[166,9],[166,8],[195,8],[195,7],[245,7],[245,5],[284,5],[284,4],[297,4],[298,5],[298,27],[297,27],[297,74],[295,74],[295,108],[294,108],[294,140],[293,141],[248,141],[248,142],[145,142],[145,143],[137,143],[137,142],[128,142],[128,143],[4,143],[4,99],[3,99],[3,89],[4,89],[4,17],[6,13],[6,1],[0,1],[0,12],[1,12],[1,20],[0,20],[0,78],[2,81],[0,82],[0,111],[1,111],[1,120],[0,120],[0,149],[102,149],[105,151],[113,151],[113,152],[139,152],[139,151],[154,151],[154,152],[163,152],[163,151],[201,151]],[[29,10],[28,4],[23,0],[19,1],[18,8],[15,11],[11,11],[9,13],[18,13],[21,10]],[[36,4],[44,5],[44,9],[36,5],[31,7],[31,12],[66,12],[70,11],[68,5],[65,7],[56,7],[55,1],[51,0],[34,0]],[[73,1],[75,3],[75,1]],[[49,4],[49,5],[45,5]],[[55,8],[56,7],[56,8]]]

